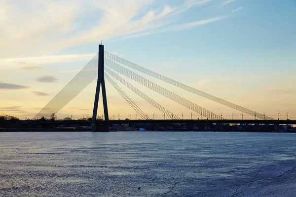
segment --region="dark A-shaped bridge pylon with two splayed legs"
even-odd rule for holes
[[[101,85],[102,85],[102,95],[103,95],[104,116],[105,116],[105,120],[108,121],[109,114],[108,114],[107,95],[106,95],[105,78],[104,78],[104,45],[102,45],[102,44],[99,45],[99,58],[98,59],[99,59],[98,60],[98,80],[97,80],[92,121],[97,120],[97,112],[98,112],[98,104],[99,104]],[[97,127],[96,127],[95,123],[92,124],[92,130],[97,131]]]

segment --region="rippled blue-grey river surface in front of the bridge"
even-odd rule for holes
[[[293,133],[0,133],[3,197],[293,196],[295,167]]]

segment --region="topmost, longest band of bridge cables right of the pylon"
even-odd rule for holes
[[[229,102],[229,101],[226,101],[226,100],[220,99],[220,98],[218,98],[218,97],[212,96],[212,95],[210,95],[210,94],[207,94],[207,93],[202,92],[202,91],[200,91],[200,90],[197,90],[197,89],[195,89],[195,88],[192,88],[192,87],[190,87],[190,86],[187,86],[187,85],[185,85],[185,84],[183,84],[183,83],[180,83],[180,82],[178,82],[178,81],[175,81],[175,80],[173,80],[173,79],[171,79],[171,78],[168,78],[168,77],[165,77],[165,76],[163,76],[163,75],[161,75],[161,74],[158,74],[158,73],[156,73],[156,72],[154,72],[154,71],[151,71],[151,70],[149,70],[149,69],[147,69],[147,68],[145,68],[145,67],[142,67],[142,66],[136,65],[136,64],[134,64],[134,63],[132,63],[132,62],[129,62],[129,61],[123,59],[123,58],[120,58],[120,57],[118,57],[118,56],[116,56],[116,55],[113,55],[113,54],[111,54],[111,53],[108,52],[108,51],[105,51],[105,57],[110,58],[111,60],[114,60],[114,61],[116,61],[116,62],[118,62],[118,63],[121,63],[121,64],[123,64],[123,65],[125,65],[125,66],[129,66],[129,67],[134,68],[134,69],[136,69],[136,70],[138,70],[138,71],[141,71],[141,72],[143,72],[143,73],[146,73],[146,74],[148,74],[148,75],[150,75],[150,76],[152,76],[152,77],[155,77],[155,78],[157,78],[157,79],[160,79],[160,80],[162,80],[162,81],[164,81],[164,82],[167,82],[167,83],[170,83],[170,84],[172,84],[172,85],[174,85],[174,86],[177,86],[177,87],[179,87],[179,88],[182,88],[182,89],[184,89],[184,90],[186,90],[186,91],[188,91],[188,92],[194,93],[194,94],[196,94],[196,95],[202,96],[202,97],[207,98],[207,99],[211,99],[211,100],[213,100],[213,101],[216,101],[216,102],[218,102],[218,103],[221,103],[221,104],[223,104],[223,105],[226,105],[226,106],[228,106],[228,107],[231,107],[231,108],[233,108],[233,109],[236,109],[236,110],[238,110],[238,111],[244,112],[244,113],[249,114],[249,115],[251,115],[251,116],[256,116],[256,117],[258,117],[258,118],[260,118],[260,119],[265,119],[265,120],[274,120],[274,119],[271,118],[271,117],[265,116],[265,115],[263,115],[263,114],[257,113],[257,112],[255,112],[255,111],[250,110],[250,109],[247,109],[247,108],[245,108],[245,107],[242,107],[242,106],[236,105],[236,104],[234,104],[234,103],[232,103],[232,102]]]

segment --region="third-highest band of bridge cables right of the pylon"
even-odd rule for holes
[[[132,90],[134,93],[136,93],[137,95],[139,95],[140,97],[142,97],[143,99],[145,99],[146,101],[148,101],[151,105],[153,105],[154,107],[156,107],[159,111],[163,112],[168,117],[172,117],[172,114],[173,114],[172,112],[170,112],[169,110],[167,110],[166,108],[164,108],[162,105],[160,105],[159,103],[157,103],[155,100],[153,100],[150,97],[148,97],[146,94],[144,94],[139,89],[137,89],[136,87],[134,87],[133,85],[131,85],[129,82],[127,82],[122,77],[120,77],[119,75],[117,75],[111,69],[109,69],[108,67],[105,67],[105,72],[108,72],[112,77],[114,77],[115,79],[117,79],[118,81],[120,81],[122,84],[124,84],[126,87],[128,87],[130,90]],[[176,116],[176,115],[173,114],[172,119],[178,120],[180,118],[178,116]]]

